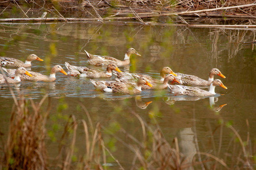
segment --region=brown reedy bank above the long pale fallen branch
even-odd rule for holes
[[[135,13],[151,17],[150,15],[165,15],[179,13],[180,16],[195,17],[236,17],[255,18],[256,6],[245,6],[254,3],[254,0],[5,0],[0,2],[0,8],[6,10],[21,10],[23,15],[27,11],[40,10],[65,15],[74,12],[72,17],[130,17]],[[181,13],[184,11],[197,11],[203,9],[225,8],[241,6],[240,8],[228,8],[191,14]],[[76,12],[82,12],[76,13]],[[4,16],[0,15],[1,18]],[[38,16],[37,16],[38,17]],[[48,16],[50,17],[50,16]],[[129,19],[129,18],[128,18]]]

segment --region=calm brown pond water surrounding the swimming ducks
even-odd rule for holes
[[[27,55],[35,53],[45,61],[33,61],[31,70],[46,75],[49,75],[50,68],[56,64],[67,71],[65,61],[72,65],[87,66],[84,50],[123,59],[129,47],[135,48],[142,55],[131,57],[131,72],[160,77],[159,70],[169,66],[174,72],[208,79],[210,69],[219,68],[227,78],[218,78],[228,90],[217,87],[215,91],[223,95],[215,99],[175,97],[168,90],[145,90],[138,96],[101,93],[94,90],[88,78],[79,79],[61,73],[57,73],[57,79],[52,83],[24,81],[12,86],[16,94],[22,93],[27,99],[32,98],[36,102],[45,94],[51,97],[52,110],[47,125],[49,131],[53,128],[52,124],[56,123],[53,118],[58,114],[73,114],[78,120],[87,120],[80,107],[83,104],[90,113],[92,123],[96,125],[101,122],[106,134],[113,124],[119,124],[138,140],[142,140],[140,122],[131,114],[135,111],[149,126],[154,125],[152,117],[155,116],[166,140],[171,144],[177,136],[180,151],[188,157],[194,157],[196,151],[212,154],[217,152],[220,120],[224,124],[231,122],[243,141],[246,141],[248,119],[250,149],[255,147],[256,50],[253,44],[242,43],[254,41],[255,35],[255,30],[249,29],[140,26],[124,23],[1,24],[0,55],[25,61]],[[152,103],[145,108],[144,103],[150,101]],[[3,133],[8,131],[12,104],[9,88],[0,85],[0,126]],[[227,105],[218,110],[221,104]],[[67,107],[58,109],[62,105]],[[56,136],[60,136],[57,134],[64,127],[64,118],[60,119]],[[85,150],[82,133],[83,127],[79,125],[75,151],[77,155]],[[115,135],[128,143],[126,136],[118,132]],[[106,139],[110,138],[110,135],[106,135]],[[236,143],[232,140],[232,131],[224,126],[220,155],[239,155],[240,150],[233,147],[230,149],[230,141],[232,144]],[[130,168],[134,158],[132,152],[118,141],[114,143],[113,155],[119,158],[124,167]],[[55,146],[56,143],[49,139],[47,148],[52,157],[58,152]],[[115,166],[112,168],[115,169]]]

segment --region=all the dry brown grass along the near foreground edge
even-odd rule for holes
[[[48,106],[45,111],[42,111],[43,102],[48,99]],[[16,100],[16,99],[14,99]],[[34,103],[33,100],[25,100],[20,96],[19,100],[14,103],[7,141],[4,142],[4,152],[1,158],[3,169],[8,170],[106,170],[112,169],[107,167],[108,158],[116,161],[114,169],[125,170],[127,167],[119,162],[114,153],[106,147],[104,142],[104,134],[101,129],[107,130],[101,126],[101,123],[96,123],[93,126],[90,115],[86,108],[85,111],[88,121],[75,119],[74,115],[70,115],[67,120],[64,131],[60,139],[58,139],[59,154],[56,158],[50,158],[46,152],[46,121],[51,110],[51,98],[44,97],[39,103]],[[138,140],[135,136],[128,134],[125,129],[120,129],[129,140],[129,143],[123,141],[111,134],[121,144],[128,148],[127,152],[134,153],[133,161],[129,165],[132,170],[192,170],[192,169],[239,169],[246,168],[253,170],[252,164],[254,161],[250,157],[252,151],[247,152],[248,148],[238,132],[229,125],[229,129],[233,131],[234,136],[230,139],[229,149],[239,149],[241,154],[234,158],[230,153],[219,155],[221,141],[219,142],[218,153],[200,152],[199,148],[193,159],[183,155],[179,149],[177,137],[174,137],[173,143],[170,144],[163,135],[157,121],[153,119],[153,125],[148,125],[136,112],[129,110],[130,113],[141,124],[142,140]],[[75,150],[76,132],[78,125],[83,127],[85,135],[84,145],[85,154],[79,155],[76,161],[73,161]],[[223,124],[219,126],[220,136],[222,136]],[[216,130],[212,132],[212,138],[217,135]],[[219,134],[218,134],[219,135]],[[232,142],[238,138],[236,146],[232,148]],[[220,138],[221,140],[221,138]],[[66,142],[69,141],[69,142]],[[196,141],[196,139],[195,139]],[[196,142],[195,142],[196,143]],[[217,145],[217,144],[216,144]],[[213,148],[214,148],[213,147]],[[200,157],[200,159],[199,159]],[[231,163],[229,158],[231,158]],[[200,161],[199,161],[200,160]],[[236,168],[235,168],[236,167]]]

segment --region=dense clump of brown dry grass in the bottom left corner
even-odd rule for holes
[[[40,113],[42,103],[21,97],[14,105],[9,123],[8,139],[4,147],[4,162],[9,170],[47,170],[46,119],[49,110]],[[50,100],[50,98],[48,98]],[[50,102],[49,102],[50,103]],[[32,108],[32,112],[29,111]],[[50,106],[48,106],[50,107]]]

